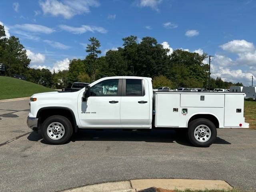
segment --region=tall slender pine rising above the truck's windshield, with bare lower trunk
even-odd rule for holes
[[[90,41],[90,44],[87,44],[86,52],[89,53],[89,57],[93,60],[92,73],[93,73],[93,80],[95,80],[96,58],[98,58],[98,54],[101,54],[101,50],[99,50],[100,41],[95,37],[90,37],[89,41]]]

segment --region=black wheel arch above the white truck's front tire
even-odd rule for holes
[[[53,115],[61,115],[68,120],[70,120],[74,131],[77,132],[78,126],[76,124],[76,116],[72,109],[68,107],[43,107],[40,108],[36,114],[36,118],[38,118],[38,128],[40,129],[40,126],[46,120],[46,118],[53,116]]]

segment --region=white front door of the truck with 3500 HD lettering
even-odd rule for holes
[[[120,82],[120,83],[119,83]],[[84,128],[120,127],[120,102],[118,94],[121,80],[103,80],[90,88],[91,95],[87,102],[81,101],[83,92],[78,97],[78,116]]]

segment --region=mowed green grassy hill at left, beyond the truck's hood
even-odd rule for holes
[[[35,93],[51,91],[55,90],[24,80],[0,76],[0,100],[29,97]]]

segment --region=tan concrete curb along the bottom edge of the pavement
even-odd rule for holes
[[[197,179],[137,179],[130,181],[107,182],[63,190],[62,192],[138,192],[150,187],[169,190],[231,190],[232,187],[223,180]]]

